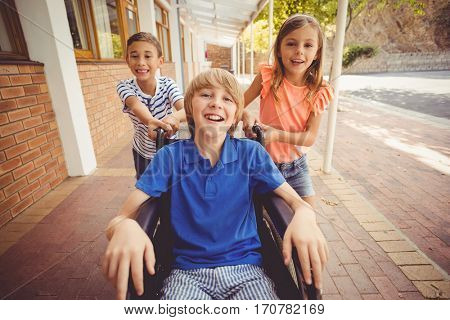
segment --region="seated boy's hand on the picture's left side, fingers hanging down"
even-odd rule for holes
[[[103,259],[103,273],[117,290],[117,299],[124,300],[131,268],[136,293],[144,293],[143,260],[148,272],[155,274],[155,253],[147,234],[133,219],[125,219],[114,228],[114,234]]]

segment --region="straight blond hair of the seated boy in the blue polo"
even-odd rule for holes
[[[233,136],[236,126],[241,120],[242,113],[244,112],[244,93],[237,82],[237,79],[228,71],[219,68],[213,68],[200,73],[192,79],[186,89],[186,94],[184,95],[184,109],[186,111],[189,132],[191,133],[191,136],[194,137],[195,123],[192,115],[192,98],[199,90],[209,87],[224,88],[225,91],[231,95],[234,103],[236,103],[236,120],[228,130],[228,134]]]

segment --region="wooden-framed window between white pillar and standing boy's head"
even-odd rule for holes
[[[135,0],[64,0],[77,58],[120,59],[138,32]]]

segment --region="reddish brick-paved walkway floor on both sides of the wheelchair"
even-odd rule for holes
[[[103,230],[133,189],[130,148],[128,134],[98,157],[93,175],[67,179],[0,229],[1,298],[114,298],[101,274]],[[448,299],[447,273],[378,207],[367,180],[346,176],[351,170],[342,161],[349,160],[338,155],[334,163],[343,175],[325,175],[319,153],[309,153],[318,221],[330,246],[324,299]]]

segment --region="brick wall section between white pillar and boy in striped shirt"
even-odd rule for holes
[[[132,129],[129,117],[122,112],[122,102],[116,91],[119,80],[129,79],[132,74],[125,62],[79,62],[78,73],[92,143],[98,156]]]

